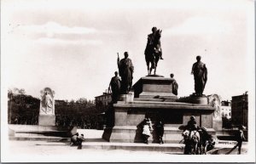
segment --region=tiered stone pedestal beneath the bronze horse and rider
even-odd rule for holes
[[[190,116],[195,116],[199,126],[215,134],[212,128],[215,109],[205,103],[176,102],[177,97],[172,93],[172,83],[168,78],[143,77],[133,88],[136,97],[133,101],[129,100],[131,95],[125,95],[123,101],[113,105],[114,125],[105,129],[103,139],[109,142],[143,142],[143,120],[146,117],[151,119],[153,128],[158,121],[164,123],[165,143],[179,143],[183,139],[178,127],[186,125]],[[158,142],[155,130],[149,142]]]

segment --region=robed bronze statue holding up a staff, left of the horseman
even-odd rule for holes
[[[129,93],[132,86],[132,74],[134,67],[132,65],[131,59],[128,58],[129,54],[125,52],[125,58],[119,60],[118,57],[118,67],[119,75],[121,76],[121,90],[120,93],[126,94]]]

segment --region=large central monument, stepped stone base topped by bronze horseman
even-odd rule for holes
[[[122,78],[121,86],[125,87],[125,92],[119,95],[119,100],[111,105],[111,112],[114,119],[110,127],[104,130],[103,139],[109,142],[131,142],[143,143],[143,121],[147,118],[153,124],[164,123],[164,143],[179,143],[183,137],[182,130],[178,127],[186,125],[190,116],[195,116],[198,126],[207,128],[207,132],[215,135],[213,129],[213,112],[216,107],[209,105],[207,96],[203,95],[203,90],[207,83],[207,67],[201,62],[201,57],[197,56],[197,62],[193,65],[191,74],[195,79],[195,93],[188,99],[177,99],[177,82],[171,77],[156,75],[156,66],[161,58],[160,37],[161,31],[156,27],[153,33],[148,35],[147,47],[145,49],[145,59],[148,66],[148,76],[141,77],[133,86],[126,82],[127,77],[131,77],[131,62],[124,62],[125,69],[119,74]],[[128,54],[125,54],[128,59]],[[121,60],[122,61],[122,60]],[[151,67],[149,68],[149,64]],[[151,71],[154,69],[154,75]],[[127,73],[124,74],[125,71]],[[132,71],[131,71],[132,70]],[[130,73],[129,73],[130,72]],[[124,76],[126,75],[126,76]],[[132,79],[132,78],[131,78]],[[125,81],[124,81],[125,80]],[[175,85],[175,86],[174,86]],[[121,87],[122,88],[122,87]],[[124,89],[123,89],[124,91]],[[111,113],[109,112],[109,113]],[[148,139],[149,142],[158,143],[155,130]]]

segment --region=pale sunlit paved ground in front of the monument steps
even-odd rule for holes
[[[104,145],[108,148],[111,144],[121,143],[108,143],[102,140],[102,130],[78,129],[79,133],[84,133],[86,141],[83,143],[82,150],[78,146],[72,146],[68,142],[50,142],[50,141],[7,141],[4,146],[2,161],[12,162],[28,162],[28,161],[58,161],[58,162],[115,162],[115,161],[137,161],[137,162],[168,162],[177,161],[178,159],[189,160],[195,156],[179,156],[180,152],[159,152],[159,151],[141,151],[141,150],[108,150],[101,149]],[[140,144],[140,143],[122,143],[125,145],[133,146],[177,146],[182,144]],[[99,145],[98,147],[96,145]],[[101,146],[100,146],[101,145]],[[230,149],[233,147],[231,144],[218,144],[218,147],[225,147]],[[247,146],[246,144],[244,146]],[[234,150],[234,154],[237,150]],[[243,152],[245,153],[245,152]]]

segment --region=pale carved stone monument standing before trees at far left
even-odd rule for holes
[[[38,125],[55,126],[55,92],[50,88],[41,90]]]

